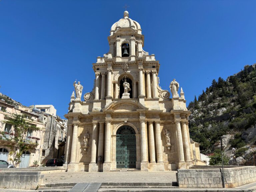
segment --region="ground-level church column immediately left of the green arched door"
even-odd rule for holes
[[[110,152],[111,152],[111,123],[110,121],[106,121],[106,129],[105,129],[105,159],[103,164],[103,172],[110,171],[111,169],[111,161],[110,161]]]

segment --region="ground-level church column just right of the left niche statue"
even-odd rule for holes
[[[98,167],[97,167],[97,164],[96,164],[97,125],[98,125],[98,122],[93,122],[92,145],[91,145],[91,162],[89,164],[89,172],[96,172],[96,171],[98,171]]]

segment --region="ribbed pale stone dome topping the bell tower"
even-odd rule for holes
[[[132,28],[136,31],[136,33],[141,34],[140,24],[137,21],[129,18],[128,11],[124,12],[124,18],[120,19],[118,22],[115,22],[110,30],[110,36],[115,33],[116,30],[120,28]]]

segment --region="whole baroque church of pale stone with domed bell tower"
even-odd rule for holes
[[[159,61],[143,50],[140,24],[128,11],[114,23],[109,52],[93,63],[94,88],[74,82],[66,139],[67,171],[168,171],[205,163],[189,137],[184,92],[159,86]],[[172,95],[172,98],[170,98]],[[82,98],[81,98],[82,97]],[[84,99],[82,101],[81,99]]]

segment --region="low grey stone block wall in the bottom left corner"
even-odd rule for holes
[[[36,189],[43,184],[43,177],[40,171],[0,172],[0,188]]]

